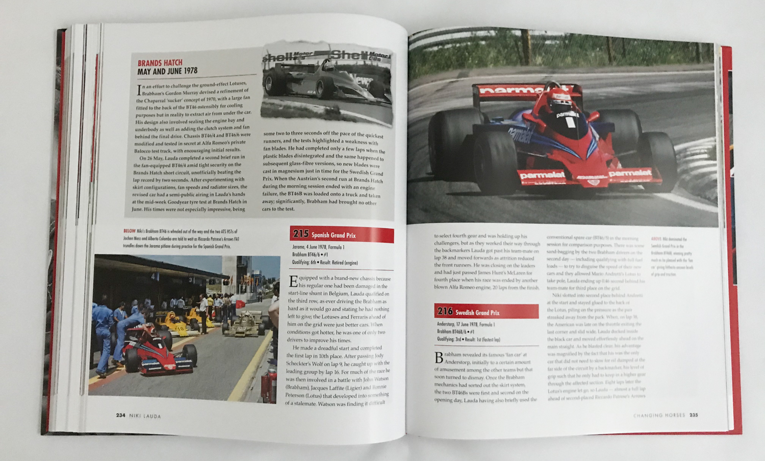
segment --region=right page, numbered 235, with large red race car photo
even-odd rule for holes
[[[721,57],[410,37],[408,433],[741,430]]]

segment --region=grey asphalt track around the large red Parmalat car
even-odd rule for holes
[[[477,73],[473,71],[471,73]],[[496,73],[496,71],[494,72]],[[664,131],[676,145],[715,136],[712,70],[657,73],[579,73],[467,76],[409,89],[407,220],[422,222],[529,222],[623,226],[716,227],[714,203],[675,187],[672,193],[646,193],[627,187],[591,199],[551,198],[516,192],[484,196],[475,183],[434,180],[428,161],[428,122],[445,109],[471,107],[474,83],[579,83],[584,109],[632,109],[643,131]],[[490,117],[508,116],[530,102],[481,105]]]

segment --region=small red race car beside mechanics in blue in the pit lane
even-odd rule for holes
[[[154,325],[129,328],[125,332],[125,371],[142,375],[165,375],[194,372],[197,366],[197,347],[184,345],[182,352],[174,354],[173,336],[169,331],[155,330]]]

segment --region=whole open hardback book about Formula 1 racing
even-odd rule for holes
[[[59,37],[43,432],[741,433],[729,48]]]

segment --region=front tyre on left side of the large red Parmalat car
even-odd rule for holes
[[[473,148],[476,182],[487,195],[509,195],[521,185],[513,136],[505,131],[484,131]]]

